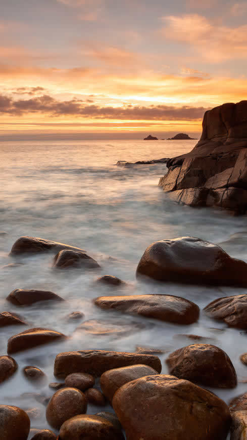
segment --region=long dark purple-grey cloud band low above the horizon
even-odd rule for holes
[[[45,113],[51,116],[83,116],[96,119],[129,119],[129,120],[199,120],[204,107],[190,106],[99,106],[85,105],[83,101],[72,99],[58,101],[49,95],[42,95],[30,99],[14,100],[0,95],[0,113],[23,115],[25,113]]]

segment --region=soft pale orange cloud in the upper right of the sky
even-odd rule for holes
[[[200,58],[210,63],[247,56],[247,25],[217,25],[198,14],[163,17],[163,35],[170,40],[187,43]]]

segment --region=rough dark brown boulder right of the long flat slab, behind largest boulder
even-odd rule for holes
[[[179,348],[166,360],[171,375],[215,388],[234,388],[237,376],[230,358],[211,344]]]

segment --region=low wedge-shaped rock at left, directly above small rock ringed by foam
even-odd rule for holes
[[[47,344],[56,340],[65,339],[63,333],[47,328],[31,328],[17,335],[11,336],[8,340],[8,354],[18,353],[38,345]]]

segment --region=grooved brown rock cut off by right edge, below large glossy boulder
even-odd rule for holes
[[[229,327],[247,329],[247,295],[215,299],[204,310],[208,316],[224,321]]]

